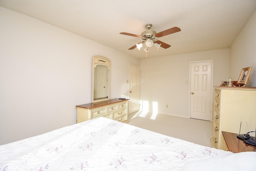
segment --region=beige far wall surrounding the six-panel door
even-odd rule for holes
[[[141,108],[190,117],[189,62],[201,60],[214,60],[214,85],[229,77],[229,49],[140,60]]]

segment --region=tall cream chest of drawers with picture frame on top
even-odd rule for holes
[[[256,88],[255,87],[215,87],[214,122],[212,147],[227,150],[222,131],[249,132],[256,127]]]

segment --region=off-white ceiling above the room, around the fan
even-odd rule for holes
[[[68,30],[137,58],[128,50],[145,25],[157,33],[177,26],[180,32],[158,40],[168,49],[150,48],[148,58],[229,48],[256,10],[256,0],[0,0],[0,6]]]

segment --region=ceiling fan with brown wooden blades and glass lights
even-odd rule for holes
[[[132,50],[134,48],[138,48],[138,50],[140,50],[140,48],[143,46],[143,44],[146,44],[146,48],[144,48],[144,51],[147,53],[149,52],[149,48],[151,46],[156,46],[156,48],[164,48],[164,49],[167,49],[167,48],[170,48],[170,45],[164,43],[164,42],[161,42],[160,40],[157,40],[157,38],[160,38],[162,36],[166,36],[166,35],[169,35],[169,34],[173,34],[173,33],[176,33],[176,32],[180,32],[180,28],[178,27],[173,27],[173,28],[169,28],[167,30],[164,30],[162,32],[159,32],[159,33],[156,33],[156,31],[154,30],[150,30],[150,28],[152,27],[152,24],[146,24],[145,26],[148,30],[144,31],[141,33],[141,36],[140,35],[136,35],[136,34],[131,34],[131,33],[126,33],[126,32],[121,32],[120,34],[124,34],[124,35],[127,35],[127,36],[134,36],[134,37],[137,37],[137,38],[141,38],[142,41],[141,42],[138,42],[138,44],[132,46],[131,48],[129,48],[128,50]]]

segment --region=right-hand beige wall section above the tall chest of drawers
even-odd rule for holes
[[[238,80],[242,68],[252,66],[249,76],[252,87],[256,87],[256,12],[240,32],[230,48],[230,76]]]

